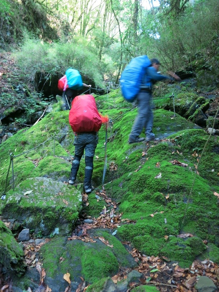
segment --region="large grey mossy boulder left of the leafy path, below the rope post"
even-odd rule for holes
[[[6,194],[1,212],[3,218],[15,218],[35,233],[66,235],[78,219],[81,201],[81,193],[75,187],[36,177]]]

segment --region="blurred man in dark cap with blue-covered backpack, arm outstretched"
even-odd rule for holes
[[[164,76],[158,73],[160,66],[159,60],[148,59],[146,55],[134,58],[121,74],[121,90],[127,101],[138,100],[138,115],[135,118],[131,133],[128,138],[129,143],[152,141],[155,139],[152,133],[153,112],[150,107],[152,99],[152,85],[156,81],[169,79],[180,81],[180,77],[169,71],[172,77]],[[145,138],[139,135],[145,127]]]

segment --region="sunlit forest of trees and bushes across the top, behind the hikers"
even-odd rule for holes
[[[150,4],[146,8],[146,4]],[[26,78],[77,68],[97,87],[118,83],[131,58],[159,58],[163,71],[209,70],[219,80],[218,0],[1,0],[0,48]],[[150,8],[150,9],[149,9]],[[211,90],[211,88],[208,88]]]

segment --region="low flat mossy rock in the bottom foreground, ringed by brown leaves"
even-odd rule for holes
[[[106,246],[96,237],[104,237],[113,247]],[[82,276],[94,283],[104,277],[112,277],[122,267],[135,267],[136,262],[125,247],[106,231],[96,230],[90,237],[96,242],[52,239],[41,247],[40,257],[46,270],[45,283],[52,291],[64,291],[68,283],[63,275],[69,272],[72,287],[77,288]],[[62,260],[60,260],[62,259]]]

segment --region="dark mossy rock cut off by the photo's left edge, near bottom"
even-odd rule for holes
[[[0,221],[0,273],[13,272],[18,276],[25,272],[22,246],[14,239],[11,230]]]

